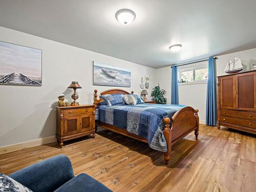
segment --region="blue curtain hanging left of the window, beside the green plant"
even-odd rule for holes
[[[178,92],[178,66],[172,67],[172,97],[170,104],[179,104]]]

